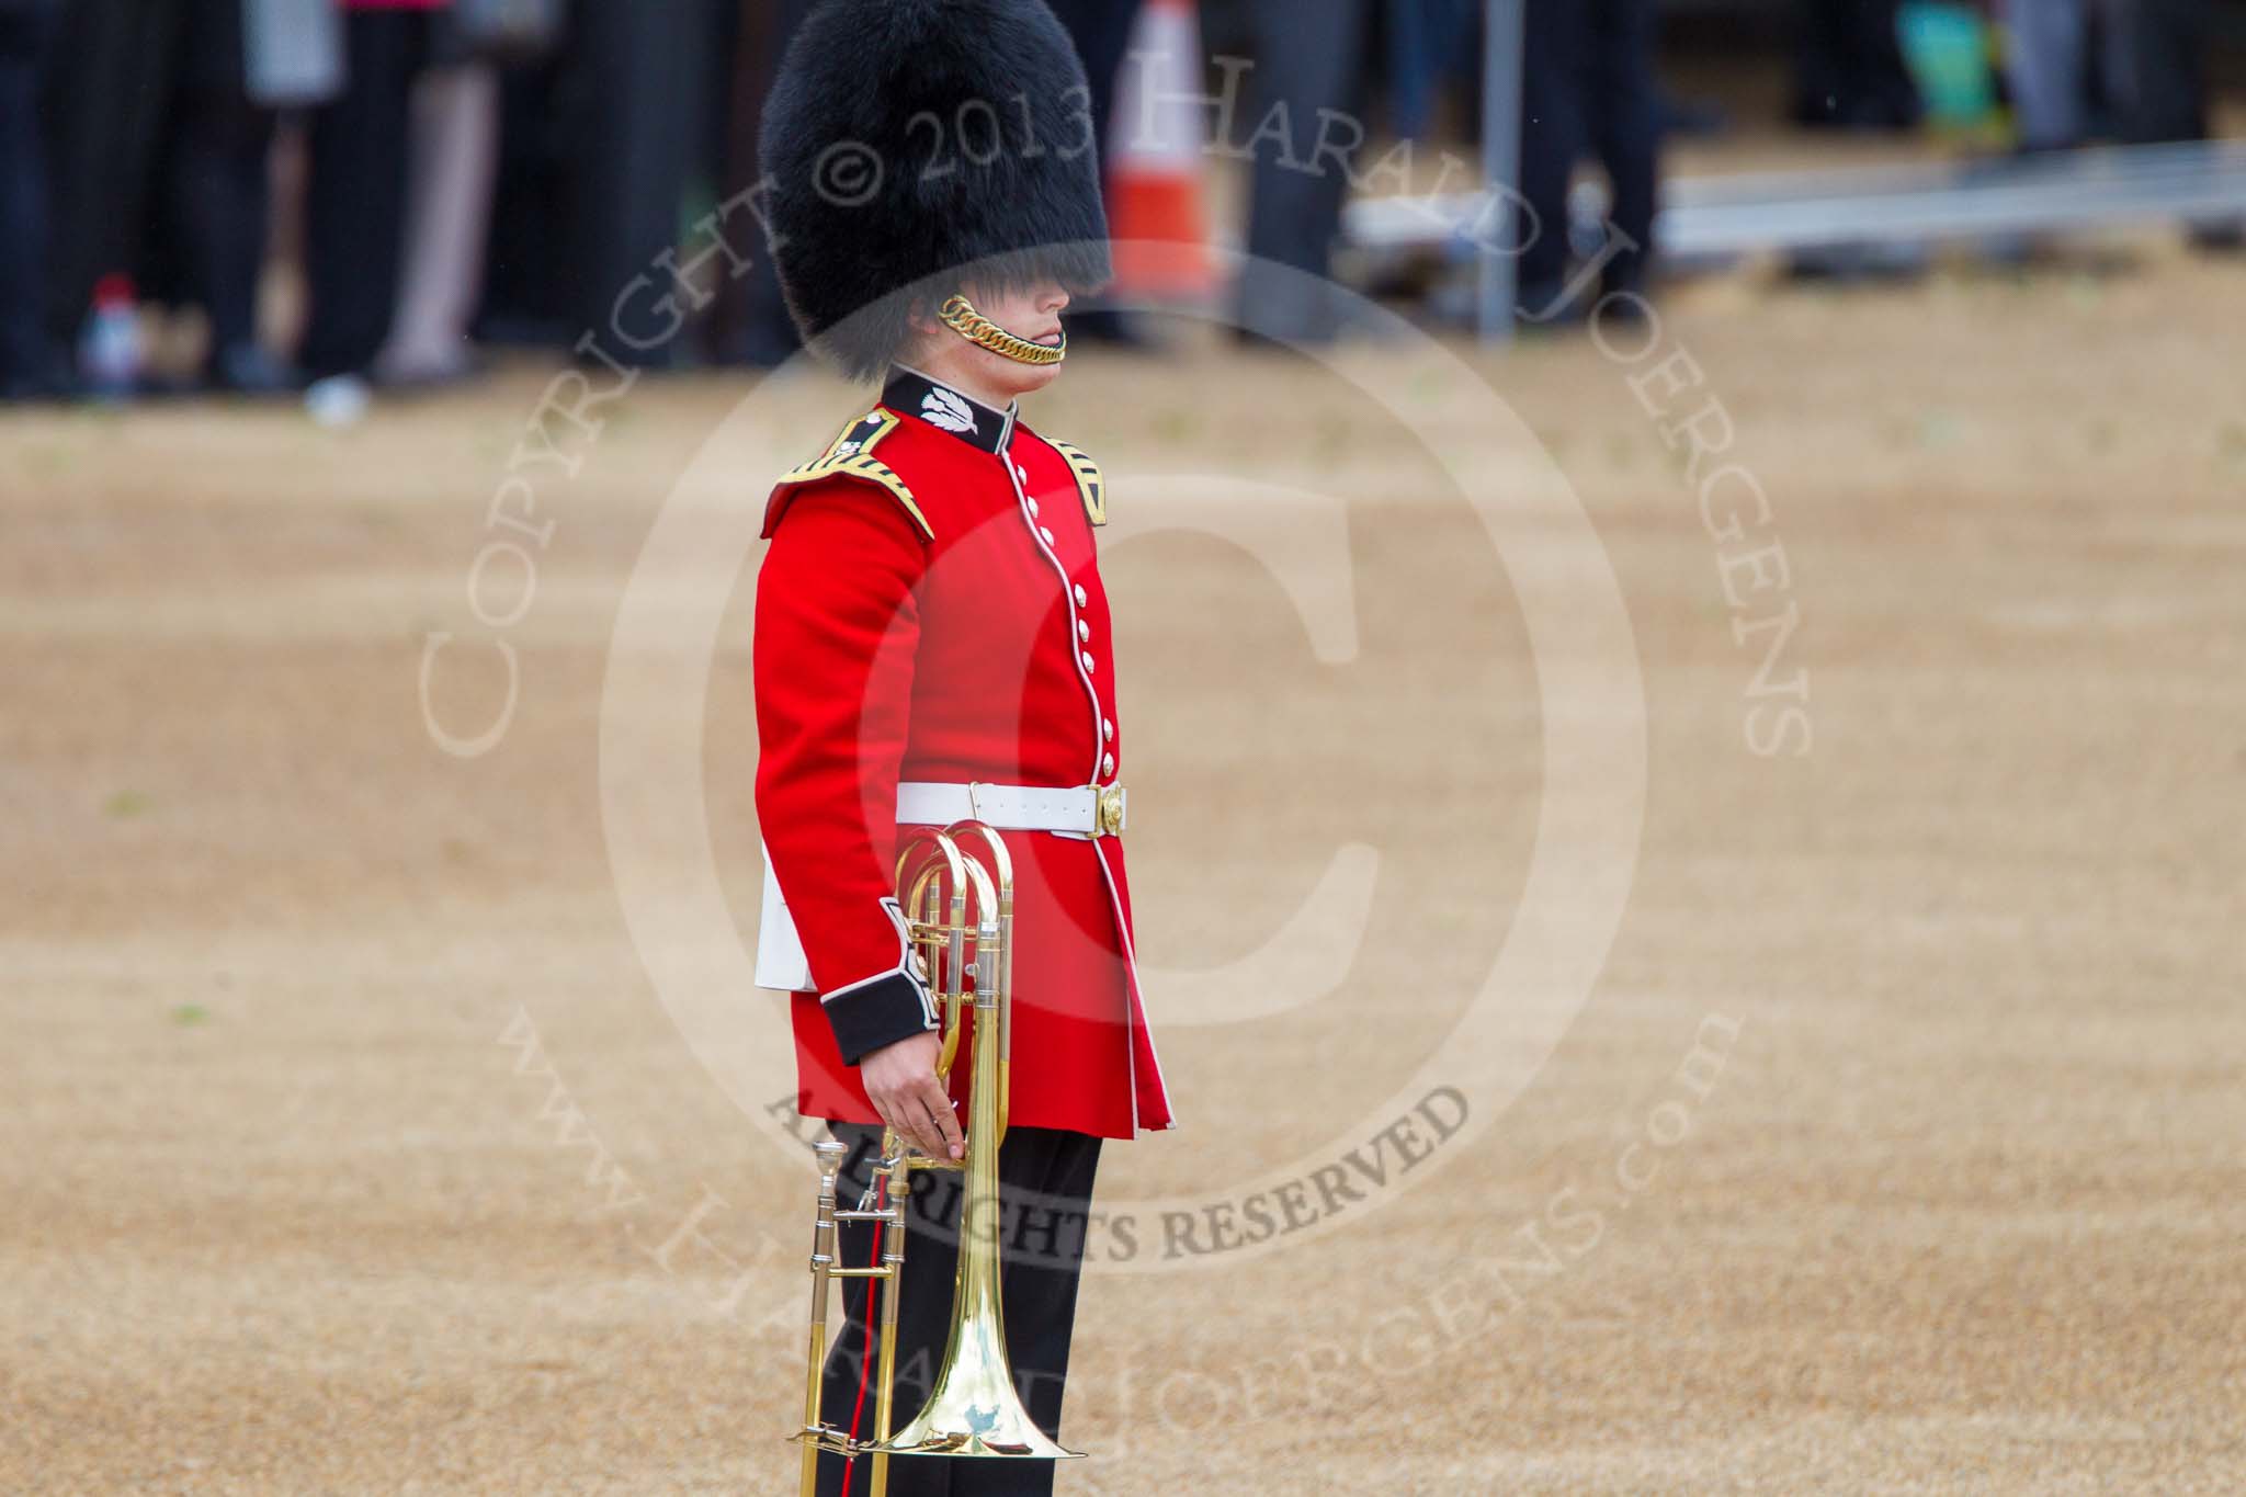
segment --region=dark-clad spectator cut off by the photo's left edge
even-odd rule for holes
[[[0,0],[0,399],[54,395],[40,290],[47,285],[47,171],[38,58],[47,0]]]

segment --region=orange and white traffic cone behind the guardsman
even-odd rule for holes
[[[1107,229],[1121,299],[1215,294],[1202,204],[1202,18],[1195,0],[1148,0],[1116,81]]]

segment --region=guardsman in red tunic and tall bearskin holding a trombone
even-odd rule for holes
[[[1125,734],[1098,572],[1098,465],[1017,397],[1067,352],[1062,310],[1107,281],[1083,67],[1042,0],[827,0],[766,110],[768,229],[806,341],[880,382],[773,489],[757,581],[759,983],[793,992],[800,1106],[851,1147],[880,1124],[959,1156],[937,1012],[894,898],[901,837],[977,819],[1015,869],[1006,1340],[1058,1436],[1101,1140],[1170,1127],[1123,866]],[[912,1196],[896,1418],[950,1313],[937,1176]],[[844,1261],[871,1232],[842,1230]],[[862,1282],[858,1284],[862,1288]],[[827,1409],[865,1380],[865,1295]],[[921,1385],[914,1387],[914,1378]],[[824,1457],[822,1493],[865,1490]],[[889,1463],[892,1493],[1047,1493],[1049,1461]]]

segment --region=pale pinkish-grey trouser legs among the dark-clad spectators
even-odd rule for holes
[[[375,357],[375,375],[393,386],[447,384],[474,370],[467,321],[483,283],[499,168],[499,72],[463,63],[422,76],[411,132],[404,274],[389,341]]]

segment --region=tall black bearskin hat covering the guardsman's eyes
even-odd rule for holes
[[[1089,97],[1044,0],[822,0],[761,130],[764,222],[804,341],[874,379],[912,303],[961,278],[1105,285]]]

